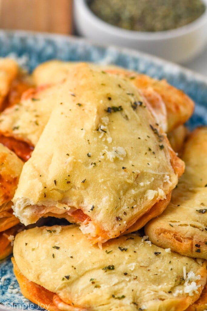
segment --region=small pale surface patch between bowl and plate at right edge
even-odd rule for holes
[[[182,66],[207,76],[207,45],[203,52],[188,63],[181,64]]]

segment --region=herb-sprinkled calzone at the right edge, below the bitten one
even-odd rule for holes
[[[207,259],[207,127],[192,132],[182,154],[186,169],[166,210],[145,226],[152,243]]]

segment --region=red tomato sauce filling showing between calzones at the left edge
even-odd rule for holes
[[[29,160],[32,151],[34,150],[34,147],[30,146],[27,142],[22,142],[14,137],[0,135],[0,143],[16,153],[16,155],[23,161]]]

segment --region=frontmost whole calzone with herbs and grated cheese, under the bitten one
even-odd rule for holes
[[[207,278],[204,262],[168,253],[146,237],[127,234],[100,249],[76,225],[20,232],[14,258],[22,293],[52,311],[182,311]]]

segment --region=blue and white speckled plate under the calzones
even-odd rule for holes
[[[39,63],[58,58],[115,64],[151,77],[165,78],[182,89],[196,102],[188,121],[190,128],[207,125],[207,77],[150,55],[113,46],[102,47],[83,39],[61,35],[0,31],[0,57],[13,56],[20,65],[32,71]],[[10,258],[0,263],[0,309],[41,309],[25,299],[12,270]]]

